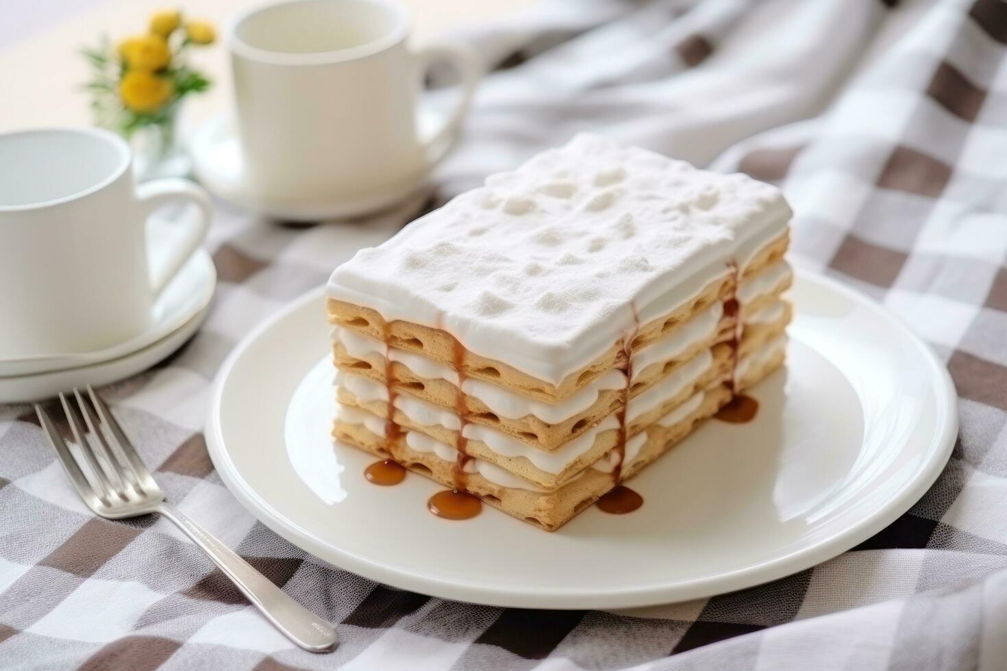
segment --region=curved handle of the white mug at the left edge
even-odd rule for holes
[[[209,231],[209,220],[213,206],[209,195],[187,179],[155,179],[137,186],[137,197],[145,212],[144,218],[150,217],[158,207],[177,200],[187,200],[195,204],[199,212],[194,218],[184,222],[184,229],[172,242],[172,249],[158,264],[159,268],[151,268],[150,288],[154,296],[160,295],[168,286],[182,265],[188,261],[192,253],[199,248]],[[150,249],[148,248],[148,255]]]

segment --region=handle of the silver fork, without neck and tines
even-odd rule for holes
[[[308,652],[326,652],[338,643],[339,638],[331,626],[288,597],[272,580],[192,521],[188,515],[166,503],[158,505],[157,512],[178,525],[266,619],[299,647]]]

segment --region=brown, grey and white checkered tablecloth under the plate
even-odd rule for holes
[[[205,325],[103,390],[168,499],[337,623],[342,645],[294,649],[166,521],[96,519],[30,408],[4,406],[0,667],[1007,668],[1007,3],[556,0],[454,38],[493,73],[437,189],[307,227],[219,203]],[[819,566],[619,613],[400,592],[258,523],[200,433],[229,350],[356,247],[581,130],[782,186],[796,260],[876,298],[947,362],[961,432],[933,487]]]

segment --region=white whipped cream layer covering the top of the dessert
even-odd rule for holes
[[[558,384],[789,216],[768,184],[581,135],[359,250],[327,294]]]

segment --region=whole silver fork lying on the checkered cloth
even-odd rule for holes
[[[59,435],[40,405],[35,405],[35,412],[70,482],[95,514],[119,519],[160,513],[201,547],[288,639],[309,652],[326,652],[338,643],[332,627],[288,597],[187,515],[164,502],[164,492],[154,482],[119,423],[90,384],[87,394],[90,403],[76,388],[74,398],[77,408],[65,395],[59,394],[76,450],[71,450]],[[83,425],[78,409],[84,415]]]

